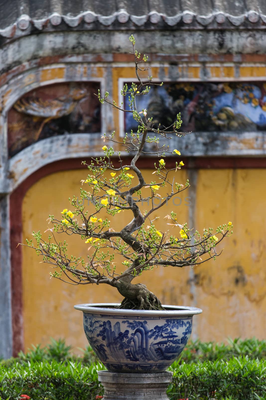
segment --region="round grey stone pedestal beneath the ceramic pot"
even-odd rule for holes
[[[104,387],[102,400],[168,400],[166,389],[172,380],[171,372],[131,374],[99,371]]]

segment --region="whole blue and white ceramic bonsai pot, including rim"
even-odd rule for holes
[[[112,372],[162,372],[179,356],[200,308],[121,310],[118,304],[78,304],[89,344]]]

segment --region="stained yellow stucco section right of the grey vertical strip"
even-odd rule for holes
[[[234,224],[215,265],[195,267],[202,340],[265,338],[265,179],[264,169],[199,171],[195,225]]]

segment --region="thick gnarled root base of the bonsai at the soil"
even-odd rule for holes
[[[118,308],[128,310],[164,310],[160,300],[147,289],[146,285],[118,281],[118,292],[124,296]]]

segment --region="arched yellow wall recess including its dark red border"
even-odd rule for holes
[[[184,159],[189,168],[182,171],[180,180],[185,182],[189,177],[191,183],[194,179],[196,186],[189,188],[181,202],[175,202],[181,222],[194,222],[193,226],[202,229],[207,221],[215,228],[217,224],[227,222],[225,218],[230,215],[234,235],[223,243],[225,252],[215,262],[196,266],[193,271],[162,268],[142,277],[142,282],[167,304],[203,307],[205,315],[195,321],[195,338],[201,340],[223,341],[228,336],[244,338],[253,331],[258,338],[264,335],[266,321],[261,318],[266,306],[266,277],[261,255],[265,244],[261,237],[266,221],[263,211],[265,193],[259,182],[266,178],[266,162],[257,159],[253,164],[255,168],[243,168],[250,161],[221,158],[218,165],[217,159],[205,159],[204,163],[200,158]],[[140,160],[139,166],[144,168],[146,179],[151,176],[153,165],[152,159],[148,162]],[[69,197],[67,187],[71,191],[78,190],[79,181],[86,174],[79,159],[48,164],[27,178],[10,196],[14,354],[30,344],[47,343],[50,336],[65,337],[74,347],[85,346],[82,316],[73,310],[74,303],[121,300],[112,288],[85,286],[81,289],[66,287],[67,284],[59,281],[51,282],[49,266],[39,264],[41,260],[35,257],[34,251],[17,247],[18,242],[25,242],[33,228],[47,228],[46,217],[51,212],[51,205],[60,213]],[[219,182],[215,191],[214,180]],[[60,198],[55,201],[51,200],[52,184],[60,189]],[[252,192],[247,192],[246,187],[251,185]],[[41,190],[47,192],[43,200]],[[252,211],[255,198],[256,217]],[[166,230],[164,216],[169,211],[162,209],[158,214],[158,227],[162,230]],[[252,224],[247,224],[247,220],[252,220]],[[252,228],[254,224],[256,231]],[[75,242],[75,248],[86,255],[87,248],[83,244]],[[217,318],[219,323],[215,322]],[[228,324],[228,318],[234,324]]]

